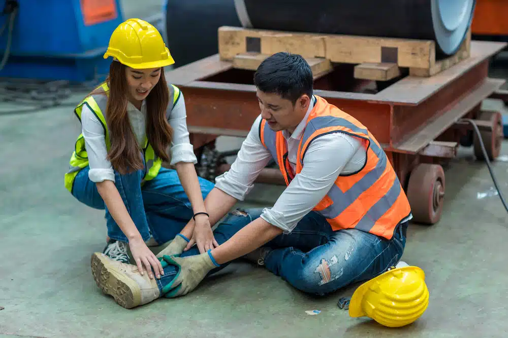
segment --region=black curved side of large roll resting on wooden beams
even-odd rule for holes
[[[436,40],[430,0],[244,2],[256,29]]]

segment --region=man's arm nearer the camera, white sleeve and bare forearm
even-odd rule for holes
[[[338,175],[361,147],[353,136],[333,133],[314,140],[302,171],[288,185],[271,209],[265,209],[228,241],[211,250],[218,264],[241,257],[276,236],[291,233],[298,222],[328,193]]]

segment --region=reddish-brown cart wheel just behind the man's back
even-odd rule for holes
[[[419,164],[409,176],[407,199],[415,222],[436,223],[444,200],[443,168],[438,164]]]

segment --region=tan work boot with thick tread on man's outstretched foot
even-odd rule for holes
[[[113,260],[104,253],[92,254],[91,268],[97,286],[125,309],[150,303],[161,294],[157,282],[146,271],[141,276],[137,266]]]

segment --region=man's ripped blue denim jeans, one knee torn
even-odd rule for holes
[[[229,213],[214,231],[218,244],[226,242],[262,209],[248,209],[246,214]],[[291,234],[279,235],[265,247],[273,248],[264,259],[265,267],[295,288],[324,295],[355,282],[372,279],[400,260],[406,242],[407,222],[397,226],[391,240],[355,229],[333,231],[325,217],[309,212]],[[181,257],[199,254],[196,246]],[[213,274],[228,264],[210,271]],[[157,284],[162,288],[177,273],[175,266],[164,269]]]

